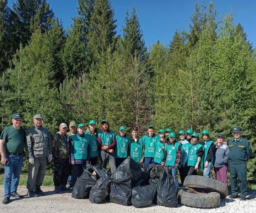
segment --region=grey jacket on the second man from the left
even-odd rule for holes
[[[26,131],[25,149],[28,158],[43,158],[52,154],[50,133],[44,127],[32,126]]]

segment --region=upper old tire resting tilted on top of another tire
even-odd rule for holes
[[[185,178],[183,186],[191,188],[209,189],[220,194],[224,199],[228,195],[228,187],[218,180],[198,175],[189,175]]]

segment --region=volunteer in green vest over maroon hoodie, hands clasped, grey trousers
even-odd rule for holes
[[[101,121],[101,131],[98,131],[98,147],[101,149],[101,159],[103,168],[107,168],[109,160],[111,173],[116,170],[116,159],[114,149],[116,147],[116,133],[110,130],[110,125],[107,120]]]

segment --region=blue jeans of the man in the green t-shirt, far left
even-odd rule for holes
[[[23,163],[23,155],[6,154],[8,165],[4,166],[4,197],[11,197],[11,194],[17,191],[18,182]]]

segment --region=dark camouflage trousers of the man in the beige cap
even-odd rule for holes
[[[69,176],[69,159],[54,158],[54,186],[66,185]]]

